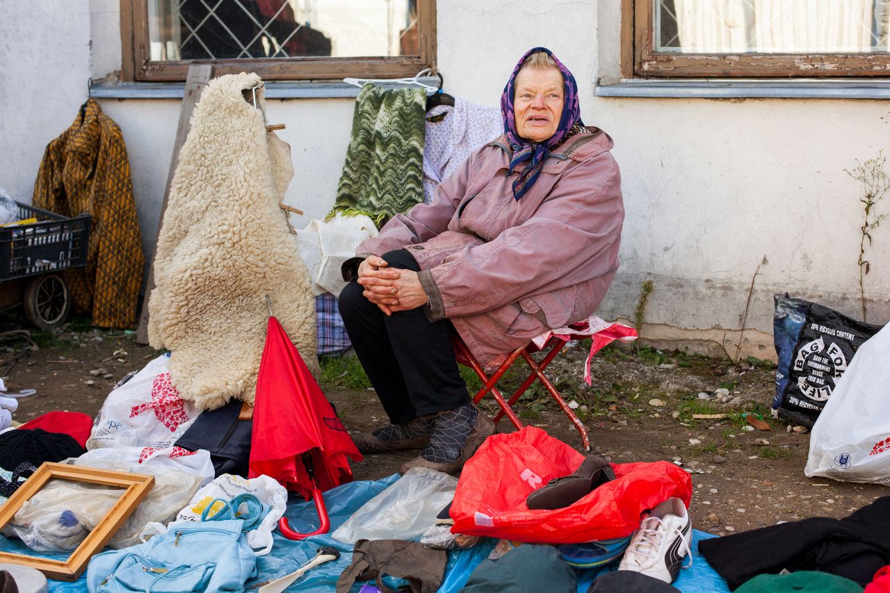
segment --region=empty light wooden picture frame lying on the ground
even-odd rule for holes
[[[45,462],[37,468],[19,490],[15,491],[3,506],[0,506],[0,529],[12,521],[26,501],[40,491],[47,482],[56,478],[72,482],[93,483],[101,486],[117,486],[124,493],[117,499],[106,516],[103,516],[95,529],[71,553],[67,560],[52,560],[40,556],[26,556],[0,552],[0,562],[30,566],[44,573],[50,579],[59,581],[77,581],[84,572],[90,558],[98,553],[111,537],[120,529],[140,502],[148,495],[155,478],[153,475],[130,474],[95,467],[69,466],[63,463]]]

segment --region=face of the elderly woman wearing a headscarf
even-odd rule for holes
[[[555,68],[527,68],[514,85],[516,131],[526,140],[544,142],[562,118],[562,73]]]

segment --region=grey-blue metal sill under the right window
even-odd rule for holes
[[[611,84],[601,79],[595,94],[667,99],[890,99],[890,79],[622,78]]]

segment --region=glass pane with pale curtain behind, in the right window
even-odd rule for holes
[[[886,53],[890,0],[651,0],[656,52]]]

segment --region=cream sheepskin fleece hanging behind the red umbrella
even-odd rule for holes
[[[200,410],[233,397],[254,402],[269,319],[265,295],[318,376],[315,299],[279,208],[294,175],[290,147],[266,131],[263,111],[242,96],[259,83],[241,73],[207,85],[158,236],[149,341],[172,352],[173,384]]]

